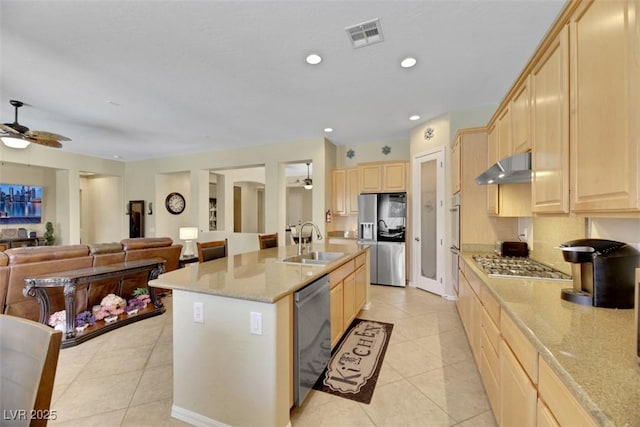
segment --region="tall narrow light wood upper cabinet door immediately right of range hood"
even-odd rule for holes
[[[569,30],[531,72],[532,211],[569,212]]]

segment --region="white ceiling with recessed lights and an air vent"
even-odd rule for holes
[[[412,114],[497,105],[563,5],[2,0],[0,122],[21,100],[19,122],[71,138],[64,151],[124,161],[407,141]],[[354,49],[344,28],[374,18],[384,41]]]

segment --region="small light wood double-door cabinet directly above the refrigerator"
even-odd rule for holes
[[[358,169],[362,193],[407,191],[407,162],[368,163]]]

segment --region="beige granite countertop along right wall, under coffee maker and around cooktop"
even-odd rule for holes
[[[564,301],[572,282],[489,277],[471,256],[462,254],[587,412],[602,426],[640,425],[634,310]]]

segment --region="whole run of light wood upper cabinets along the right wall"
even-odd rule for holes
[[[566,3],[489,122],[489,164],[532,157],[524,191],[488,190],[490,214],[522,216],[507,195],[527,191],[533,213],[640,212],[638,13],[639,0]]]

